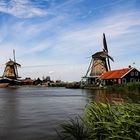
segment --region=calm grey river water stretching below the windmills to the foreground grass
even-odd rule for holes
[[[65,88],[0,89],[0,140],[57,140],[55,129],[89,101],[138,102],[132,94]]]

